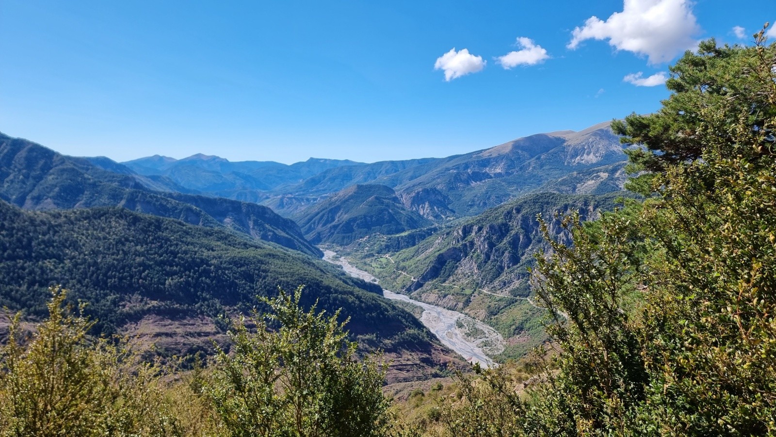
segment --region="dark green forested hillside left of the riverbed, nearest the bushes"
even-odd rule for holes
[[[165,318],[245,310],[257,294],[306,286],[303,303],[343,308],[348,329],[372,346],[428,347],[432,336],[379,286],[326,262],[178,220],[121,208],[30,212],[0,201],[0,305],[40,316],[61,284],[88,302],[99,331],[153,314]]]

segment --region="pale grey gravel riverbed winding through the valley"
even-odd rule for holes
[[[355,267],[348,262],[347,259],[338,257],[334,251],[324,250],[324,260],[340,265],[350,276],[364,279],[367,282],[377,282],[377,279],[374,276]],[[489,347],[495,347],[494,349],[503,349],[504,338],[501,337],[494,328],[490,328],[487,324],[473,319],[466,314],[437,307],[436,305],[431,305],[431,303],[414,300],[404,294],[394,293],[393,291],[383,289],[383,296],[386,297],[386,299],[403,300],[404,302],[409,302],[423,308],[421,323],[424,324],[429,331],[433,332],[443,345],[458,352],[459,355],[466,359],[466,361],[471,362],[472,364],[479,362],[480,366],[486,368],[497,366],[497,363],[490,359],[483,351],[483,345],[490,345]],[[459,319],[466,326],[476,327],[476,331],[481,332],[480,337],[470,338],[467,336],[460,328],[458,328],[456,322],[459,321]]]

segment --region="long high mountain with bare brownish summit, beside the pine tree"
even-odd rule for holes
[[[622,189],[625,160],[610,123],[599,123],[580,132],[536,134],[447,158],[332,168],[286,190],[305,199],[354,183],[376,183],[395,189],[407,207],[438,221],[473,216],[532,191]],[[556,183],[570,175],[572,184]],[[277,210],[285,213],[282,206]]]

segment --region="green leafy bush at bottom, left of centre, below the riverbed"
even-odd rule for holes
[[[374,356],[355,361],[338,314],[306,312],[301,295],[281,290],[263,299],[266,320],[255,312],[234,326],[233,353],[220,350],[205,393],[234,436],[381,435],[385,367]]]

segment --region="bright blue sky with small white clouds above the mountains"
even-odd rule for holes
[[[116,161],[441,157],[649,113],[682,47],[768,20],[772,0],[0,0],[0,131]]]

